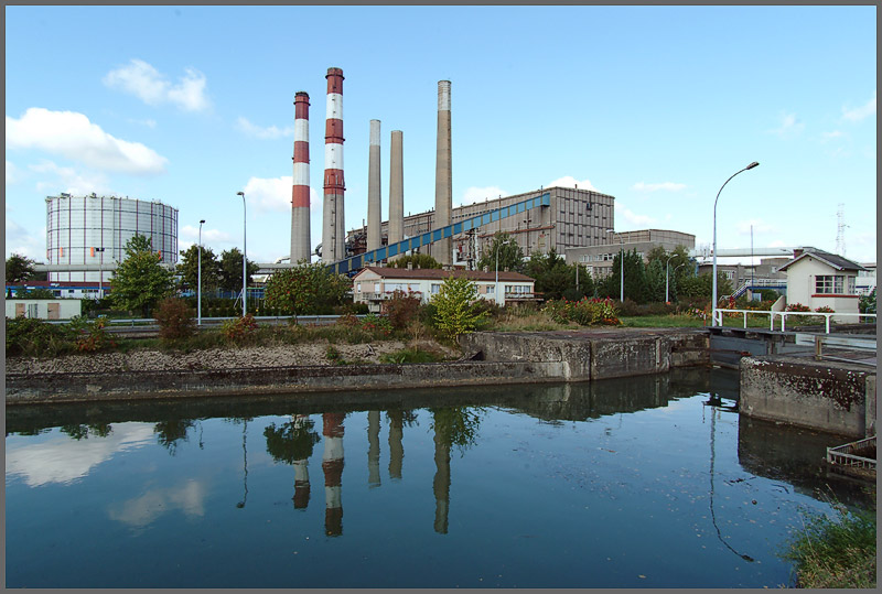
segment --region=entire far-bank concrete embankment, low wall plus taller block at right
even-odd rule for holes
[[[7,404],[589,381],[707,364],[707,341],[701,330],[475,333],[462,345],[480,360],[7,374]]]

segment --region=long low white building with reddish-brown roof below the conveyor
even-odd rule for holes
[[[477,285],[481,299],[504,305],[512,301],[534,299],[534,279],[519,272],[499,271],[498,291],[496,272],[481,270],[440,270],[432,268],[386,268],[369,266],[353,278],[353,301],[367,303],[372,312],[379,312],[381,303],[392,298],[395,291],[419,296],[428,303],[441,290],[441,283],[450,276],[464,276]]]

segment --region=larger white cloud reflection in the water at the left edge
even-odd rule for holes
[[[64,435],[32,445],[12,445],[7,450],[7,474],[23,477],[30,487],[47,483],[69,484],[88,475],[117,452],[140,447],[152,438],[151,425],[120,423],[114,424],[106,438],[77,441]]]

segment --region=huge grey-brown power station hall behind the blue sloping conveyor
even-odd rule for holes
[[[453,236],[453,266],[473,269],[481,255],[490,248],[493,236],[499,231],[509,234],[520,246],[525,257],[547,253],[552,248],[563,255],[569,248],[595,246],[606,241],[606,229],[614,226],[615,198],[577,187],[547,187],[459,206],[451,212],[451,223],[505,208],[541,194],[549,194],[549,206],[526,209],[515,216],[499,218],[477,229]],[[405,237],[415,237],[437,228],[434,216],[435,210],[406,216]],[[381,226],[384,245],[387,244],[388,225],[388,222],[384,222]],[[359,227],[349,231],[346,242],[353,253],[362,253],[366,245],[366,229]],[[429,253],[432,255],[431,251]]]

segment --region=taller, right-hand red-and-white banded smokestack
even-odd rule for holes
[[[335,262],[345,256],[343,192],[343,71],[327,68],[327,119],[324,129],[324,212],[322,260]]]

